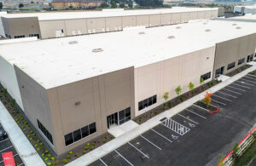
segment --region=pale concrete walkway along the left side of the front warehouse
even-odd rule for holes
[[[23,134],[14,118],[9,114],[3,103],[0,102],[0,123],[3,129],[8,133],[9,140],[15,146],[16,151],[20,155],[23,163],[27,166],[43,166],[44,161],[38,155],[38,152],[33,148],[26,135]]]

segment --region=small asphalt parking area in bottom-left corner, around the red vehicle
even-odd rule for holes
[[[0,124],[0,128],[3,129],[1,124]],[[19,154],[16,152],[15,147],[13,146],[11,141],[9,140],[9,138],[6,138],[5,140],[0,141],[0,166],[4,165],[3,157],[2,157],[3,152],[13,152],[13,155],[14,155],[14,158],[15,158],[15,163],[18,166],[24,165],[22,163],[22,160],[21,160]]]

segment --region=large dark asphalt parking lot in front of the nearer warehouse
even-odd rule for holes
[[[210,113],[189,106],[90,165],[217,165],[256,123],[256,77],[212,94]]]

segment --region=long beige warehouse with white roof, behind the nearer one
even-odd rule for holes
[[[45,39],[122,31],[131,26],[166,26],[217,17],[218,8],[173,8],[4,14],[0,19],[3,22],[4,37]]]

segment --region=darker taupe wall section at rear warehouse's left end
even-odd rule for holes
[[[6,34],[15,38],[15,36],[24,35],[29,37],[30,34],[39,34],[41,37],[40,27],[38,24],[38,17],[26,18],[4,18],[3,28]]]

